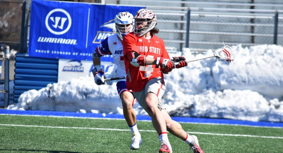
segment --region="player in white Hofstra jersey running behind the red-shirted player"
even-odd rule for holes
[[[93,76],[97,85],[106,84],[104,80],[104,70],[100,66],[100,57],[104,55],[113,55],[114,63],[117,66],[117,77],[126,76],[124,53],[122,40],[123,37],[133,31],[134,17],[129,12],[119,12],[115,17],[116,34],[107,37],[92,53],[93,61]],[[134,96],[132,91],[127,90],[126,79],[117,82],[117,91],[122,100],[123,114],[128,126],[131,129],[132,143],[131,149],[139,149],[141,144],[141,134],[139,133],[136,125],[136,114],[133,110]]]

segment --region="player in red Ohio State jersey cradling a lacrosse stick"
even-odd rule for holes
[[[172,152],[167,131],[187,142],[193,152],[202,153],[197,137],[190,136],[178,122],[172,120],[161,102],[165,93],[163,74],[173,68],[185,67],[188,63],[184,57],[170,59],[164,41],[154,35],[159,32],[156,24],[154,12],[140,9],[135,14],[134,32],[123,38],[127,87],[152,118],[152,125],[161,142],[159,153]]]

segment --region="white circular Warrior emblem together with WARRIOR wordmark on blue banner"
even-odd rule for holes
[[[70,14],[61,8],[51,10],[45,18],[45,26],[54,35],[62,35],[69,31],[72,26]],[[65,39],[59,37],[38,37],[38,42],[59,43],[76,45],[76,39]]]

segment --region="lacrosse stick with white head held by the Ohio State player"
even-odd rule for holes
[[[188,63],[188,62],[203,60],[203,59],[211,58],[211,57],[216,57],[217,60],[226,60],[226,62],[228,62],[228,63],[231,62],[231,61],[234,61],[235,53],[234,53],[233,49],[228,45],[225,46],[224,42],[223,42],[223,45],[224,45],[224,47],[222,47],[220,50],[216,51],[213,55],[208,55],[208,56],[201,57],[201,58],[195,58],[195,59],[192,59],[192,60],[186,60],[185,62]],[[179,64],[179,62],[176,62],[174,64],[177,65],[177,64]]]

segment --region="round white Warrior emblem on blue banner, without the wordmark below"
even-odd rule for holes
[[[70,14],[61,8],[51,10],[45,18],[45,26],[54,35],[62,35],[69,31],[72,25]]]

